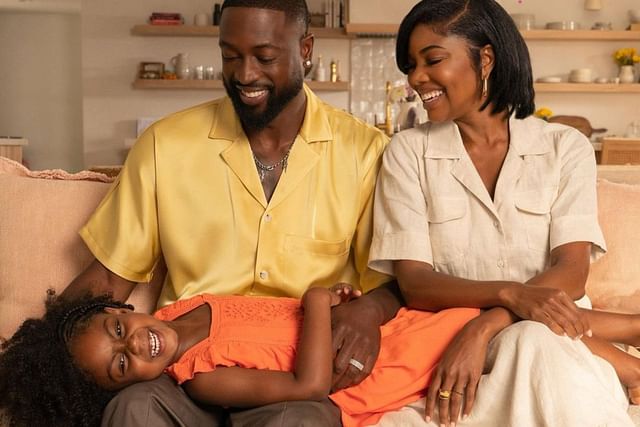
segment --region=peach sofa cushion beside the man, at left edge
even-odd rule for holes
[[[0,338],[40,316],[47,291],[61,292],[91,262],[78,230],[112,180],[89,171],[33,172],[0,157]],[[157,287],[138,286],[130,302],[151,311]]]

